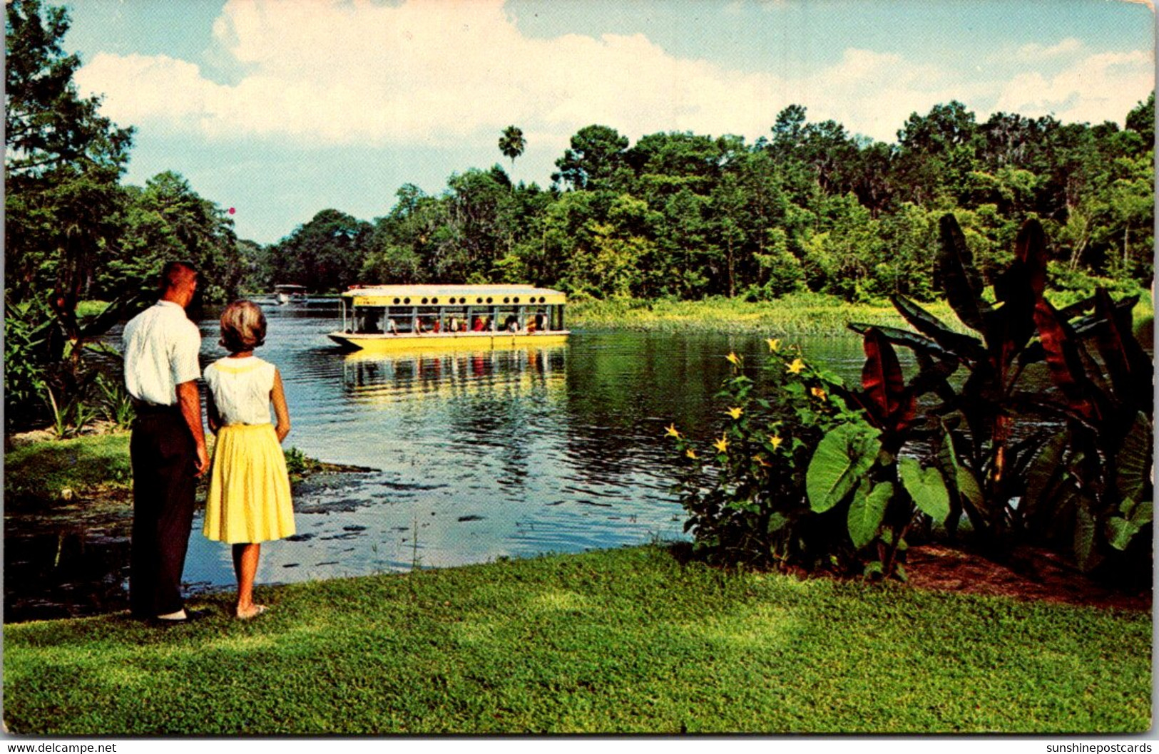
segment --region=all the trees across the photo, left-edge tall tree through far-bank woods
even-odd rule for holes
[[[632,144],[593,124],[571,137],[547,188],[515,184],[497,163],[471,168],[437,195],[401,186],[372,221],[327,208],[260,244],[175,171],[123,183],[133,129],[78,93],[68,24],[41,0],[6,6],[6,360],[64,375],[50,382],[81,379],[85,343],[151,300],[172,258],[204,271],[207,302],[279,283],[322,293],[433,281],[595,298],[930,299],[938,218],[953,212],[983,274],[1037,218],[1056,287],[1152,276],[1153,93],[1123,129],[1001,112],[979,122],[949,102],[911,115],[894,144],[810,122],[800,104],[751,144],[691,132]],[[512,164],[525,147],[517,126],[503,131]],[[86,300],[110,303],[81,316]],[[39,389],[7,374],[9,397]]]

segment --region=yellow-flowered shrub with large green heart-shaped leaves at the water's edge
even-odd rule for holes
[[[668,427],[685,462],[677,489],[694,550],[720,564],[904,577],[898,554],[918,513],[949,514],[940,473],[898,459],[889,423],[865,410],[881,387],[874,369],[851,391],[800,349],[767,343],[767,395],[753,394],[742,357],[727,357],[724,430],[707,448]],[[895,403],[889,418],[905,424],[909,402]]]

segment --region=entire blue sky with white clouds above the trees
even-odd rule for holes
[[[51,0],[50,0],[51,1]],[[500,163],[546,188],[580,129],[768,136],[810,122],[894,142],[952,100],[1120,125],[1154,88],[1156,17],[1128,0],[72,0],[65,50],[165,170],[272,243],[364,220],[413,183]],[[515,164],[504,127],[524,132]]]

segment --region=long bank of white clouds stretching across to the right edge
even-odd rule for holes
[[[591,123],[633,137],[756,137],[790,103],[804,104],[810,120],[833,118],[891,141],[910,112],[954,98],[998,98],[999,109],[1027,114],[1054,108],[1064,119],[1122,117],[1152,75],[1143,53],[1088,54],[1051,79],[1029,73],[987,85],[851,49],[836,65],[788,80],[679,59],[639,34],[527,38],[502,0],[231,0],[213,34],[216,58],[238,67],[236,83],[163,56],[102,53],[78,72],[78,85],[103,93],[103,111],[117,123],[374,146],[453,144],[511,123],[553,141]],[[1057,58],[1081,44],[1023,50]]]

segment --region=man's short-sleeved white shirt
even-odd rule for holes
[[[125,387],[139,401],[176,405],[177,386],[202,375],[202,335],[173,301],[158,301],[130,320],[122,342]]]

